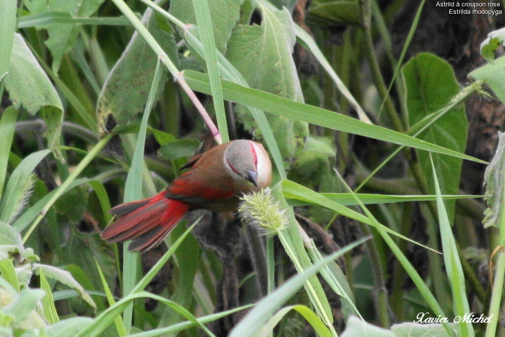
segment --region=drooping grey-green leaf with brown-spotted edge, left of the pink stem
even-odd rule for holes
[[[142,22],[160,43],[170,60],[178,62],[173,31],[165,19],[147,9]],[[155,52],[135,31],[100,92],[96,108],[100,131],[107,131],[106,122],[109,115],[112,115],[118,124],[126,124],[134,121],[143,111],[157,61]],[[168,76],[164,73],[157,95],[163,89],[167,78]]]

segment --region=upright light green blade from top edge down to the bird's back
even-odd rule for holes
[[[224,110],[223,89],[221,88],[221,77],[219,75],[218,60],[216,54],[216,41],[212,29],[211,13],[207,0],[193,0],[194,13],[198,30],[200,32],[201,43],[204,47],[205,62],[211,80],[212,101],[216,110],[219,132],[223,142],[230,140],[228,136],[228,126],[226,124],[226,112]]]

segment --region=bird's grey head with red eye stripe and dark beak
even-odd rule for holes
[[[224,157],[230,175],[238,184],[249,187],[246,189],[257,190],[270,184],[272,164],[260,143],[245,139],[231,141]]]

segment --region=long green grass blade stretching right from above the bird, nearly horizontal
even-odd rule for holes
[[[194,90],[210,94],[209,76],[207,74],[187,70],[184,72],[184,77]],[[223,85],[224,98],[227,101],[255,107],[278,116],[297,119],[334,130],[486,164],[483,160],[445,149],[384,127],[369,125],[333,111],[294,102],[272,93],[246,88],[226,80],[223,80],[221,83]]]

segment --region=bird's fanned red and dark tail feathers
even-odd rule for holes
[[[142,253],[159,245],[190,208],[182,201],[167,199],[165,194],[163,191],[111,209],[120,218],[104,230],[102,238],[110,243],[133,239],[128,250]]]

